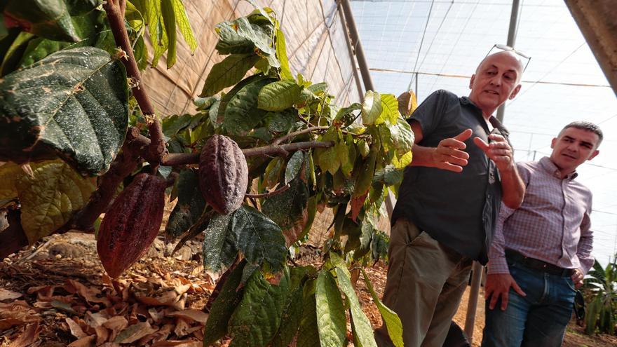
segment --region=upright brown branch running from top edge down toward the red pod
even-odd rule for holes
[[[145,86],[142,84],[142,76],[140,69],[137,67],[137,61],[133,54],[133,47],[130,44],[126,27],[124,26],[124,8],[126,6],[126,0],[107,0],[103,4],[103,8],[107,13],[107,20],[109,20],[109,26],[111,32],[114,34],[116,45],[124,51],[121,62],[126,67],[126,73],[130,79],[134,81],[133,95],[137,104],[140,105],[140,109],[144,114],[149,128],[150,135],[150,147],[149,155],[144,158],[152,165],[158,165],[165,153],[165,142],[163,141],[163,128],[161,123],[154,114],[154,106],[150,102],[150,98],[146,92]],[[125,55],[126,54],[126,55]]]

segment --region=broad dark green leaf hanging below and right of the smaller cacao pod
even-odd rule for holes
[[[285,264],[287,247],[280,227],[253,207],[240,206],[231,219],[231,233],[238,250],[252,264],[268,264],[280,271]]]

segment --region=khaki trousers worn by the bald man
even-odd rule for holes
[[[444,247],[407,219],[391,230],[388,278],[382,301],[402,322],[405,347],[442,347],[465,292],[472,260]],[[386,325],[380,347],[393,346]]]

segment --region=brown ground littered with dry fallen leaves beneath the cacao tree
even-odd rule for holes
[[[214,281],[201,266],[199,243],[188,243],[175,257],[166,257],[169,251],[157,240],[117,283],[104,274],[92,235],[53,236],[4,259],[0,346],[201,346],[208,318],[204,307]],[[302,248],[298,257],[299,264],[321,263],[315,247]],[[381,297],[386,267],[380,262],[366,272]],[[381,316],[362,278],[356,285],[363,310],[372,326],[379,327]],[[468,296],[467,290],[454,317],[460,327]],[[482,340],[484,306],[479,302],[473,346]],[[228,344],[222,341],[222,346]],[[563,346],[617,346],[617,337],[586,335],[573,321]]]

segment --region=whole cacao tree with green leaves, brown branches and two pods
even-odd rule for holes
[[[154,240],[172,186],[166,240],[203,234],[203,266],[219,278],[204,346],[223,336],[232,346],[346,346],[346,311],[353,343],[376,346],[350,267],[385,252],[375,221],[412,160],[393,95],[337,106],[326,83],[292,74],[276,13],[257,8],[215,27],[226,57],[196,113],[157,115],[140,69],[165,53],[172,67],[177,32],[196,48],[182,0],[2,6],[0,207],[12,222],[0,255],[93,231],[107,212],[97,250],[115,278]],[[334,216],[325,262],[296,266],[292,254],[325,208]],[[400,320],[364,279],[402,346]]]

